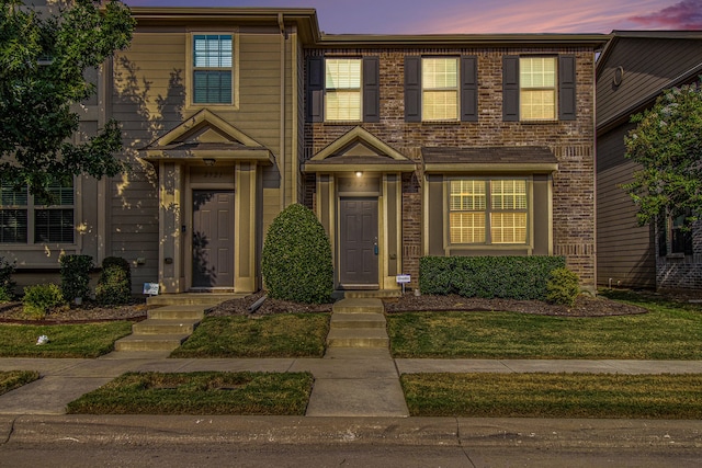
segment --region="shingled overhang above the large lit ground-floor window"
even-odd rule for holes
[[[558,160],[546,147],[422,148],[426,173],[553,173]]]

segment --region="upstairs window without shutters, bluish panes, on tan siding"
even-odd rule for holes
[[[193,103],[231,104],[231,35],[193,36]]]

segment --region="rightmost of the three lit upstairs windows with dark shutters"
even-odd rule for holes
[[[520,117],[556,119],[556,58],[522,57],[519,60]]]

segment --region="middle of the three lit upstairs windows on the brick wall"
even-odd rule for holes
[[[423,58],[422,121],[458,119],[458,59]]]

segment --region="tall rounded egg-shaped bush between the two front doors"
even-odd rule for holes
[[[274,299],[307,304],[331,299],[331,246],[309,208],[293,204],[273,220],[263,243],[262,270]]]

